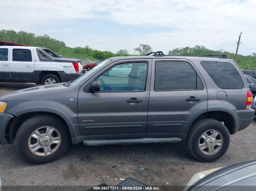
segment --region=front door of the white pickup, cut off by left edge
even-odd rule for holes
[[[11,81],[9,47],[0,48],[0,81]]]

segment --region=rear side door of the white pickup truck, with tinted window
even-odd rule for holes
[[[11,47],[10,75],[12,82],[35,82],[33,49]]]

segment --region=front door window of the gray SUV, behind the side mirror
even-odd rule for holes
[[[100,91],[145,91],[145,62],[115,65],[98,77]]]

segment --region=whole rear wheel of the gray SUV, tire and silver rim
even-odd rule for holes
[[[207,136],[205,136],[205,132]],[[218,135],[214,139],[214,135],[217,133]],[[222,145],[219,146],[221,140]],[[229,142],[230,135],[227,127],[215,119],[200,119],[194,122],[186,139],[189,153],[202,162],[212,162],[220,158],[228,150]],[[204,148],[205,146],[207,147]]]

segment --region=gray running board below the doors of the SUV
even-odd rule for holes
[[[100,145],[130,145],[142,143],[166,143],[181,142],[181,138],[135,138],[135,139],[116,139],[116,140],[86,140],[84,145],[100,146]]]

